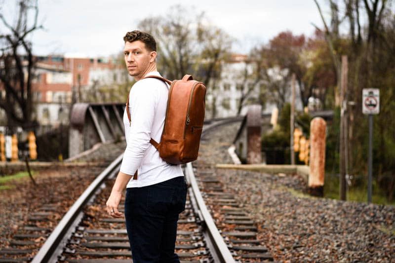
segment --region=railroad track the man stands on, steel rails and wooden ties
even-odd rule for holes
[[[209,143],[209,131],[235,121],[240,121],[240,118],[208,125],[203,131],[202,143]],[[124,219],[110,218],[104,212],[104,204],[121,159],[122,156],[118,156],[95,179],[49,236],[49,230],[45,229],[46,241],[32,262],[131,262]],[[214,169],[198,161],[194,166],[187,164],[184,169],[190,188],[186,210],[180,215],[177,229],[176,253],[180,260],[226,263],[273,261],[268,249],[256,238],[254,222],[240,208],[235,197],[223,191]],[[35,237],[40,238],[39,235]],[[14,262],[30,260],[19,258]]]

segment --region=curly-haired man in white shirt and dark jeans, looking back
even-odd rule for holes
[[[136,83],[125,113],[126,150],[117,180],[106,203],[107,213],[119,218],[121,193],[126,187],[125,220],[134,263],[179,262],[174,253],[178,215],[185,208],[187,187],[180,165],[166,163],[150,138],[159,142],[167,107],[168,86],[156,78],[155,39],[144,32],[126,33],[124,56]],[[137,180],[132,175],[138,171]]]

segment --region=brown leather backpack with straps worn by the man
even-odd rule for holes
[[[159,156],[168,163],[182,164],[196,160],[203,129],[206,87],[202,82],[193,80],[191,75],[173,81],[155,75],[144,78],[149,77],[170,84],[160,143],[152,138],[150,143],[159,151]],[[129,96],[126,113],[131,122]],[[137,172],[133,179],[137,179]]]

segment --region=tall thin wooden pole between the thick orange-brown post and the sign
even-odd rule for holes
[[[347,82],[348,82],[348,60],[347,56],[342,56],[342,75],[341,75],[341,88],[340,88],[340,152],[339,152],[339,174],[340,174],[340,184],[339,184],[339,196],[340,200],[346,200],[346,161],[345,161],[345,119],[347,118],[345,106],[347,101],[345,101],[345,95],[347,92]]]

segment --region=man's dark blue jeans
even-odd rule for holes
[[[178,215],[185,209],[186,196],[183,176],[126,189],[126,230],[134,263],[180,262],[174,247]]]

